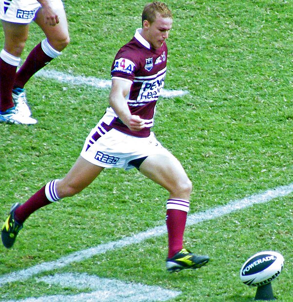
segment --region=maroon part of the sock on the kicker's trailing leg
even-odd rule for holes
[[[32,195],[25,203],[15,210],[14,218],[17,222],[22,223],[33,212],[50,203],[52,202],[46,197],[45,186],[43,186],[41,190]]]

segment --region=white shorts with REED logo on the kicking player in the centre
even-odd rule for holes
[[[81,156],[94,165],[129,170],[134,168],[129,164],[133,159],[154,154],[170,156],[170,152],[162,147],[153,132],[148,137],[136,137],[110,129],[100,135],[98,127],[99,124],[91,130],[81,152]]]

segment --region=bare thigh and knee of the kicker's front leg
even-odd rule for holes
[[[148,156],[141,164],[140,172],[171,194],[180,194],[172,197],[189,198],[191,182],[181,163],[171,153]]]

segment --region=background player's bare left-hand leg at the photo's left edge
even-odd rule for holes
[[[2,21],[5,36],[4,49],[15,57],[20,57],[28,37],[29,23]]]

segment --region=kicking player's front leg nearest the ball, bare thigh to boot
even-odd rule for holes
[[[208,256],[197,256],[183,248],[192,185],[180,162],[170,153],[151,155],[139,170],[170,193],[166,216],[169,247],[167,270],[174,272],[205,265],[209,261]]]

